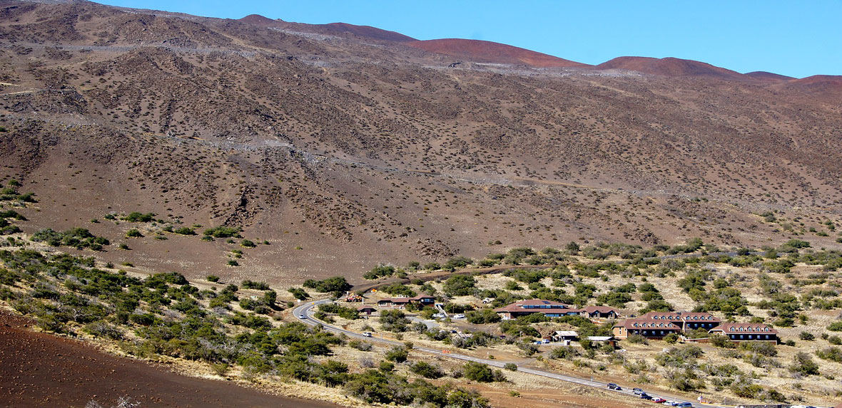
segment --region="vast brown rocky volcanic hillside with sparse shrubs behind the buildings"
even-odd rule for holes
[[[0,2],[0,178],[40,206],[24,230],[278,283],[571,240],[839,247],[839,87],[266,20]],[[681,75],[647,68],[667,63]],[[129,212],[268,244],[229,266],[225,239],[104,221]]]

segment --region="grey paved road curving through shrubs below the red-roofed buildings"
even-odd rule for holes
[[[345,330],[342,327],[331,326],[326,322],[322,322],[322,321],[314,318],[312,316],[312,311],[311,311],[312,307],[317,306],[317,305],[321,305],[323,303],[328,303],[328,302],[330,302],[330,301],[327,300],[327,299],[322,300],[322,301],[308,301],[306,303],[302,303],[299,306],[296,306],[296,308],[293,310],[293,313],[295,314],[296,317],[306,316],[306,318],[303,318],[303,319],[300,318],[299,319],[299,320],[301,320],[301,322],[304,322],[304,323],[306,323],[310,326],[316,326],[318,324],[321,324],[322,327],[324,327],[325,330],[328,330],[329,332],[342,333],[342,334],[344,334],[348,337],[356,337],[356,338],[360,338],[360,339],[363,339],[363,340],[366,340],[366,341],[369,341],[369,342],[373,342],[373,343],[382,343],[382,344],[388,344],[388,345],[393,345],[393,346],[402,346],[403,345],[403,343],[395,342],[395,341],[392,341],[392,340],[386,340],[385,338],[381,338],[381,337],[365,337],[358,332],[351,332],[349,330]],[[499,360],[496,360],[496,359],[491,360],[491,359],[488,359],[488,358],[478,358],[478,357],[473,357],[473,356],[467,356],[465,354],[442,353],[442,350],[437,349],[437,348],[426,348],[426,347],[420,347],[420,346],[413,346],[413,350],[417,350],[417,351],[420,351],[420,352],[423,352],[423,353],[435,354],[435,355],[445,357],[445,358],[456,358],[457,360],[463,360],[463,361],[475,361],[477,363],[488,364],[490,366],[498,367],[498,368],[501,368],[501,369],[504,368],[504,365],[506,363],[509,363],[509,362],[506,362],[506,361],[499,361]],[[521,373],[526,373],[526,374],[540,375],[541,377],[547,377],[547,378],[551,378],[551,379],[559,379],[559,380],[562,380],[562,381],[567,381],[568,383],[580,384],[580,385],[585,385],[585,386],[589,386],[589,387],[600,388],[600,389],[603,389],[603,390],[607,389],[606,383],[601,383],[599,381],[592,381],[590,379],[582,379],[582,378],[573,377],[573,376],[570,376],[570,375],[552,373],[552,372],[544,371],[544,370],[541,370],[541,369],[530,369],[530,368],[527,368],[527,367],[518,366],[518,371],[520,371]],[[632,395],[632,390],[623,389],[621,391],[615,390],[614,392],[616,392],[618,394],[621,394],[621,395],[626,395],[629,398],[637,398],[636,395]],[[647,394],[649,394],[649,393],[647,393]],[[674,401],[678,401],[678,402],[690,402],[690,404],[693,404],[693,406],[695,406],[695,407],[704,406],[704,407],[717,408],[717,407],[722,406],[722,405],[708,405],[708,404],[701,405],[697,402],[693,402],[693,401],[689,401],[689,400],[679,400],[679,399],[676,399],[674,397],[668,397],[668,396],[664,396],[664,395],[657,395],[657,394],[649,394],[649,395],[652,395],[653,398],[660,397],[660,398],[663,398],[664,400],[674,400]]]

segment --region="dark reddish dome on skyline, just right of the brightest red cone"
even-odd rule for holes
[[[743,74],[694,60],[679,58],[649,58],[624,56],[596,65],[598,70],[630,70],[659,76],[706,76],[711,78],[746,80]]]

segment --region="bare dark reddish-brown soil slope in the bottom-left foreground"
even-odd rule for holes
[[[111,406],[125,396],[143,407],[338,406],[185,377],[79,341],[30,332],[27,326],[22,317],[0,311],[0,406],[84,406],[90,400]]]

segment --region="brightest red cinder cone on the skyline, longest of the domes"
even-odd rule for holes
[[[544,68],[590,66],[511,45],[478,39],[429,39],[426,41],[416,41],[408,45],[428,52],[467,58],[479,62],[525,64]]]

